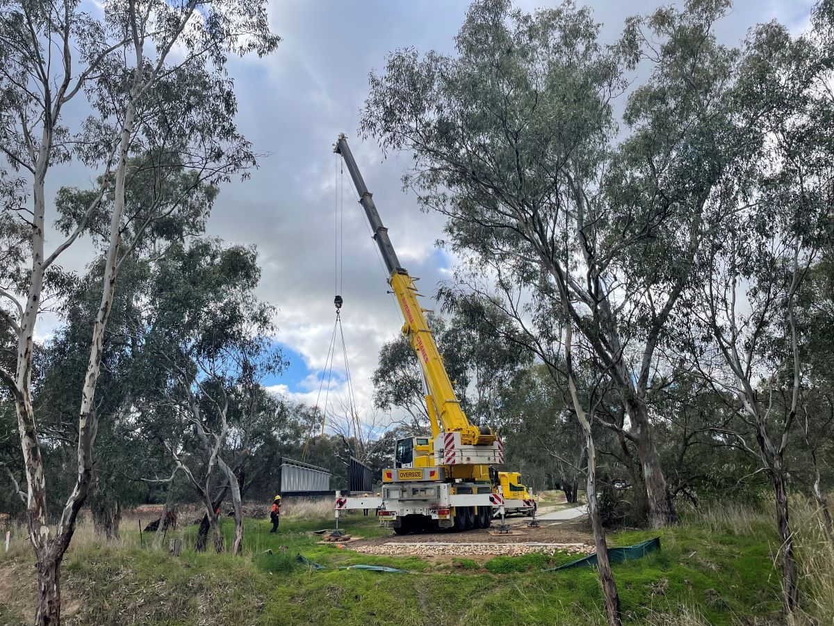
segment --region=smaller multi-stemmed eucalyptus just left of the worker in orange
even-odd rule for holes
[[[148,412],[143,430],[156,437],[162,422],[162,432],[170,437],[162,441],[168,458],[203,503],[218,552],[224,549],[214,497],[218,484],[232,496],[234,553],[241,552],[244,539],[234,470],[249,452],[239,449],[238,462],[229,458],[235,412],[246,401],[259,401],[247,395],[258,393],[259,381],[284,366],[270,340],[273,310],[253,294],[259,278],[253,248],[210,239],[172,245],[157,262],[143,314],[132,331],[167,378],[165,385],[148,391],[144,401],[157,409]]]

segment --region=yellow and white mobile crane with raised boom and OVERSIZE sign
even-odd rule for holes
[[[397,441],[394,467],[382,472],[381,498],[336,494],[337,526],[339,511],[354,508],[376,509],[382,523],[397,534],[489,528],[496,511],[534,512],[535,500],[518,472],[492,467],[504,463],[500,439],[490,427],[471,424],[461,408],[417,299],[414,279],[399,264],[344,134],[339,135],[334,152],[344,159],[389,272],[388,283],[405,321],[402,332],[420,362],[431,423],[430,437]],[[341,296],[336,296],[336,305],[341,305]]]

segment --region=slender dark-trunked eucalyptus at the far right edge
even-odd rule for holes
[[[711,215],[722,236],[701,250],[696,283],[694,353],[707,380],[736,399],[741,425],[726,436],[771,482],[789,615],[799,589],[786,454],[811,373],[798,309],[834,216],[831,17],[821,5],[811,32],[796,38],[778,23],[751,31],[735,98],[755,115],[761,141],[746,184],[727,194],[723,215]],[[709,342],[698,346],[705,329]]]

